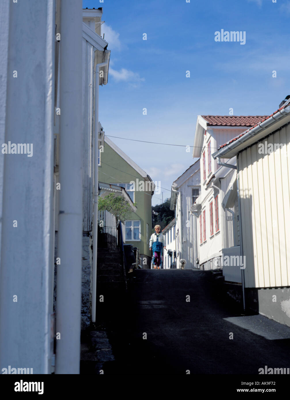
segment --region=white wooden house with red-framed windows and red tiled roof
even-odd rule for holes
[[[231,199],[232,203],[226,204],[227,207],[222,204],[224,195],[232,188],[234,170],[225,164],[219,165],[212,153],[224,140],[241,134],[261,118],[263,116],[197,117],[192,156],[199,157],[201,192],[191,212],[197,223],[196,258],[199,268],[203,270],[221,266],[223,248],[233,248],[239,241],[236,199]],[[233,210],[229,211],[229,208]],[[236,250],[234,248],[230,251]]]

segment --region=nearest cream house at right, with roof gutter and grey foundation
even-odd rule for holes
[[[289,98],[273,114],[221,144],[213,157],[218,162],[235,157],[238,167],[246,307],[290,326]]]

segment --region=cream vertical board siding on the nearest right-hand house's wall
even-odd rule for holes
[[[259,154],[253,144],[238,158],[246,287],[290,285],[289,126],[260,141],[266,142],[284,145]]]

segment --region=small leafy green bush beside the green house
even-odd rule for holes
[[[99,211],[109,211],[116,217],[116,224],[119,221],[124,222],[128,219],[132,213],[130,204],[125,200],[123,196],[115,196],[114,193],[110,193],[107,196],[99,197],[98,199]]]

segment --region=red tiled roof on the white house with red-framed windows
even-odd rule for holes
[[[253,126],[266,115],[202,115],[208,126]]]

